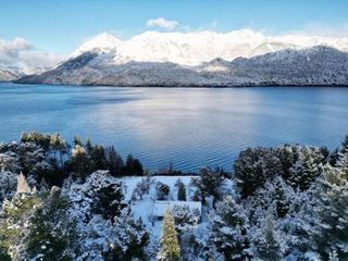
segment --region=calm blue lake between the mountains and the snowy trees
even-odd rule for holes
[[[0,84],[0,140],[23,130],[114,145],[151,170],[231,169],[240,150],[285,142],[335,148],[348,88],[115,88]]]

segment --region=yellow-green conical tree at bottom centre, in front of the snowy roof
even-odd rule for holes
[[[175,223],[172,212],[166,211],[161,236],[161,250],[158,256],[160,261],[178,261],[181,260],[181,247],[177,240],[177,234],[175,231]]]

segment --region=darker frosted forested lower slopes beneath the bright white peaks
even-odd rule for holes
[[[18,83],[108,86],[348,85],[348,53],[318,46],[286,49],[229,62],[188,66],[172,62],[112,63],[110,53],[84,52],[54,70]]]

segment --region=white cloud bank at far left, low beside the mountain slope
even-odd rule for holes
[[[63,60],[63,55],[42,51],[24,38],[0,39],[0,66],[20,73],[33,74],[51,69]]]

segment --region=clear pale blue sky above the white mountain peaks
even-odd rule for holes
[[[348,37],[348,0],[1,0],[0,38],[23,37],[34,46],[69,53],[102,32],[128,38],[164,17],[171,29],[266,34],[307,32]],[[169,27],[164,30],[167,30]]]

